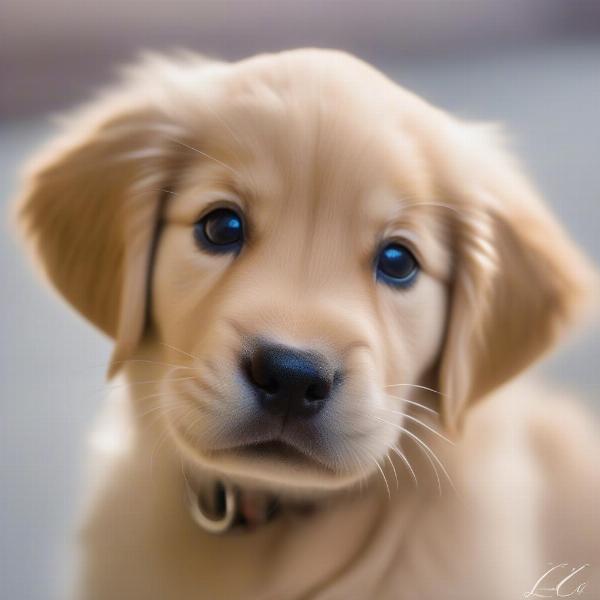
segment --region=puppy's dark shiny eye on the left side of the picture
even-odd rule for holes
[[[194,237],[209,252],[239,252],[244,243],[242,218],[230,208],[217,208],[194,226]]]

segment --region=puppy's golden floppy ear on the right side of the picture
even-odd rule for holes
[[[456,267],[439,383],[451,430],[471,402],[555,343],[596,283],[498,141],[476,136],[470,164],[460,169],[463,179],[474,172],[476,182],[465,192],[464,180],[455,181],[449,192],[457,200]]]

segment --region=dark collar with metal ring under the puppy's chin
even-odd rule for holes
[[[186,499],[192,520],[212,534],[249,532],[266,525],[284,511],[309,515],[315,510],[315,506],[307,502],[283,504],[274,494],[244,490],[219,479],[200,486],[186,479]]]

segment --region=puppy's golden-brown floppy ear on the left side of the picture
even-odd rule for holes
[[[18,204],[51,283],[116,340],[111,373],[144,330],[161,188],[172,172],[164,118],[140,96],[104,98],[77,114],[32,163]]]

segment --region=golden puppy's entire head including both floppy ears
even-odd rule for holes
[[[350,484],[415,392],[455,429],[584,295],[488,130],[341,53],[153,58],[67,129],[21,199],[37,255],[113,372],[141,343],[181,365],[169,430],[228,476]]]

